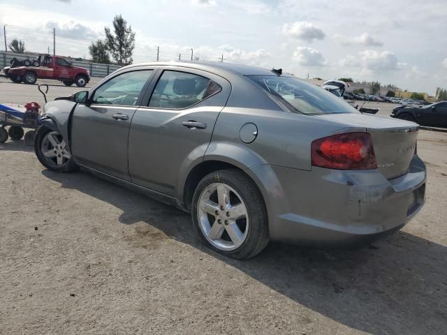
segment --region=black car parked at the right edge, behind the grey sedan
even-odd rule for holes
[[[393,110],[391,117],[413,121],[421,126],[447,128],[447,101],[423,107],[400,106]]]

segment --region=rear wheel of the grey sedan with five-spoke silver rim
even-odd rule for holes
[[[203,243],[230,258],[252,258],[268,244],[263,197],[240,170],[219,170],[203,177],[194,191],[191,216]]]

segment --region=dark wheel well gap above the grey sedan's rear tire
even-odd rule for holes
[[[203,177],[217,170],[228,169],[237,169],[243,172],[243,170],[237,168],[237,166],[221,161],[205,161],[193,168],[193,170],[189,172],[184,184],[183,200],[186,209],[191,210],[191,202],[193,201],[194,191],[196,191],[196,187]]]

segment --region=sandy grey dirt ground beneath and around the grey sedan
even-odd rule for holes
[[[182,211],[0,144],[0,334],[446,334],[447,133],[418,153],[427,203],[402,231],[237,261]]]

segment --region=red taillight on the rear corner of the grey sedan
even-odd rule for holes
[[[377,168],[376,156],[368,133],[346,133],[314,140],[312,165],[339,170]]]

